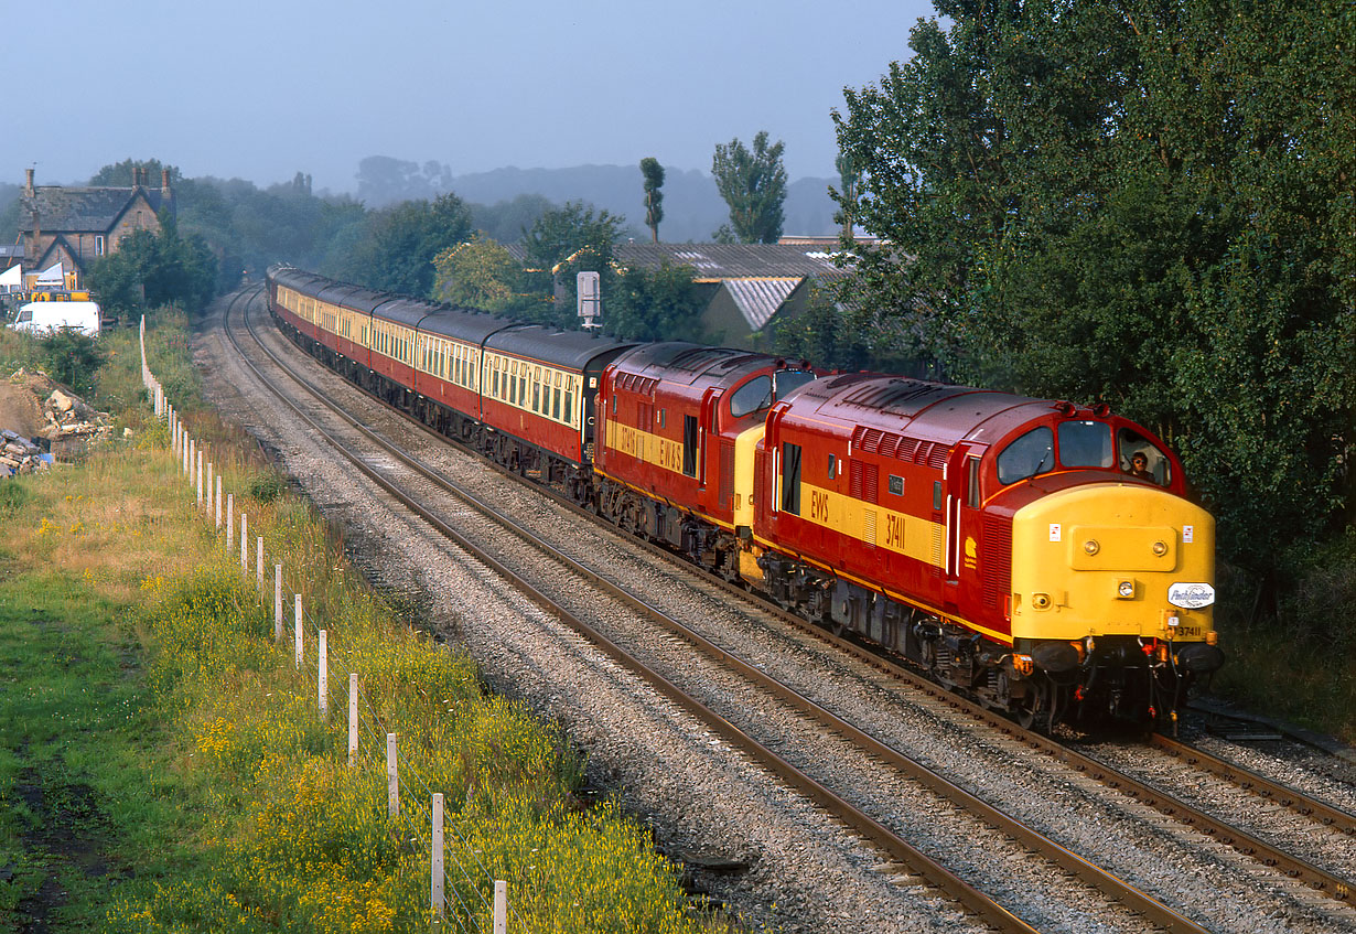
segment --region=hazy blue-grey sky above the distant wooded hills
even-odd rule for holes
[[[4,0],[0,178],[76,183],[127,157],[355,190],[363,156],[711,171],[766,129],[833,176],[829,111],[910,54],[922,0]],[[22,24],[19,28],[15,26]]]

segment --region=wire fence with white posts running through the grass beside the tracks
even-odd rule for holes
[[[171,454],[188,484],[195,511],[221,537],[225,554],[233,563],[237,541],[235,491],[225,488],[220,468],[209,460],[210,446],[190,432],[182,413],[165,396],[164,386],[151,371],[146,362],[145,316],[141,319],[140,342],[142,385],[146,388],[156,418],[165,422],[168,427]],[[244,495],[241,491],[241,504]],[[222,507],[222,496],[225,496],[225,507]],[[462,835],[457,821],[452,821],[452,830],[460,843],[458,849],[472,857],[473,865],[468,865],[458,855],[458,849],[447,851],[443,836],[446,830],[442,809],[443,796],[441,792],[433,790],[431,782],[419,763],[400,752],[397,733],[391,729],[391,724],[381,717],[373,705],[373,698],[362,689],[361,670],[365,659],[358,649],[351,645],[335,644],[330,637],[328,626],[312,614],[311,607],[302,599],[302,595],[311,592],[312,588],[297,576],[300,572],[289,573],[286,564],[281,560],[274,561],[273,594],[268,594],[264,584],[264,535],[255,537],[252,575],[250,546],[250,521],[241,508],[239,514],[240,573],[243,577],[252,576],[255,579],[260,605],[266,610],[268,603],[273,603],[274,641],[279,649],[292,649],[298,674],[306,679],[306,683],[315,683],[317,714],[328,718],[331,712],[347,710],[350,767],[386,773],[391,817],[388,830],[397,843],[408,842],[420,853],[428,854],[428,892],[433,916],[441,922],[450,920],[464,934],[483,930],[479,920],[481,911],[488,912],[492,918],[492,934],[503,934],[507,930],[509,916],[514,918],[519,930],[526,930],[522,918],[509,906],[507,882],[494,877],[471,840]],[[283,620],[286,615],[285,595],[287,594],[293,596],[290,640],[286,638]],[[290,645],[283,645],[286,641],[290,641]],[[348,678],[342,679],[342,685],[335,685],[327,676],[330,659],[335,655],[350,662]],[[366,737],[366,743],[359,742],[359,735]],[[418,788],[422,794],[401,796],[401,782],[407,788]],[[487,889],[494,892],[492,900],[485,897]],[[468,899],[471,900],[468,901]]]

